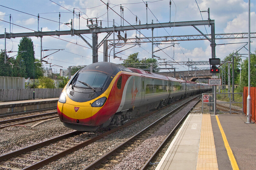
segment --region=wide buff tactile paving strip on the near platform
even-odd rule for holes
[[[203,114],[196,170],[218,170],[210,114]]]

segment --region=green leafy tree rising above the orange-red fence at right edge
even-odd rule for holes
[[[256,53],[256,50],[255,50]],[[248,87],[248,58],[241,64],[241,84],[238,89],[243,92],[244,86]],[[256,55],[251,54],[251,87],[256,87]]]

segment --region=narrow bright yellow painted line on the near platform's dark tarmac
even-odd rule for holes
[[[219,122],[219,117],[217,115],[216,115],[216,120],[217,120],[218,125],[219,125],[219,130],[221,132],[222,139],[224,141],[224,145],[226,147],[226,150],[227,150],[227,153],[228,153],[228,156],[229,156],[229,160],[230,160],[231,166],[232,166],[233,170],[239,170],[239,168],[237,166],[237,163],[236,163],[236,159],[235,159],[235,157],[233,155],[233,152],[232,152],[231,148],[229,147],[228,140],[227,140],[226,135],[225,135],[225,133],[224,133],[224,131],[222,129],[222,126],[221,126],[221,124]]]

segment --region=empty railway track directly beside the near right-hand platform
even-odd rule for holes
[[[194,100],[194,99],[191,99],[191,100]],[[191,100],[189,100],[188,102],[191,102]],[[197,102],[194,102],[195,104],[193,104],[193,106],[190,108],[190,110],[192,110],[193,107],[199,101],[200,100],[198,100]],[[136,148],[139,145],[143,145],[144,142],[148,142],[146,140],[148,140],[148,138],[151,138],[151,136],[153,136],[155,134],[155,132],[158,131],[162,126],[165,126],[165,124],[168,121],[170,121],[170,119],[172,118],[172,116],[174,114],[176,114],[178,112],[182,112],[183,107],[188,102],[186,102],[185,104],[177,107],[176,109],[174,109],[171,112],[169,112],[168,114],[166,114],[164,117],[160,118],[159,120],[155,121],[154,123],[152,123],[148,127],[144,128],[142,131],[138,132],[133,137],[129,138],[128,140],[126,140],[125,142],[123,142],[122,144],[117,146],[116,148],[112,149],[111,151],[109,151],[108,153],[103,155],[101,158],[99,158],[98,160],[94,161],[92,164],[88,165],[83,170],[104,169],[105,167],[111,166],[111,164],[115,165],[116,163],[119,162],[120,155],[123,155],[124,152],[126,152],[128,150],[131,150],[133,148]],[[183,118],[176,124],[175,128],[173,128],[170,131],[170,133],[167,135],[167,137],[162,141],[162,143],[158,146],[158,148],[151,155],[151,157],[148,159],[148,161],[146,161],[145,165],[141,169],[144,170],[144,169],[146,169],[148,167],[148,165],[150,164],[150,161],[152,160],[152,158],[154,158],[154,156],[158,153],[160,148],[162,148],[162,146],[165,144],[165,142],[168,141],[169,137],[172,136],[173,132],[183,122],[183,120],[185,119],[187,114],[190,112],[190,110],[187,111],[186,114],[184,114]],[[140,157],[141,155],[138,155],[138,156]],[[112,165],[112,166],[114,166],[114,165]],[[110,169],[112,169],[112,168],[110,168]],[[118,167],[115,167],[114,169],[118,169]]]

